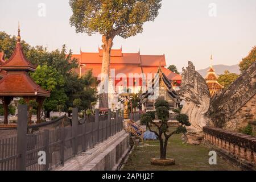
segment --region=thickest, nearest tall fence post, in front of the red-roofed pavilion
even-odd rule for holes
[[[17,126],[17,170],[26,171],[27,151],[27,105],[18,105],[18,126]]]

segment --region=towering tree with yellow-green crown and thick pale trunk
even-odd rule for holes
[[[76,32],[102,35],[100,107],[108,107],[110,51],[115,36],[129,38],[143,31],[143,23],[154,21],[162,0],[70,0],[71,26]]]

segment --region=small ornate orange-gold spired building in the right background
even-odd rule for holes
[[[212,55],[210,56],[210,60],[212,61]],[[210,97],[213,97],[215,94],[220,93],[224,86],[222,86],[217,80],[218,76],[216,75],[213,66],[210,65],[210,68],[207,71],[207,76],[205,76],[205,80],[207,82]]]

